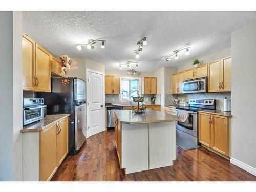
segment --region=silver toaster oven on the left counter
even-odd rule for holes
[[[23,125],[44,119],[45,115],[46,105],[43,98],[23,99]]]

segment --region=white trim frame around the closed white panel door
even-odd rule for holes
[[[89,83],[88,83],[88,76],[89,76],[89,73],[96,73],[96,74],[99,74],[99,75],[102,75],[102,79],[103,79],[103,86],[102,86],[102,100],[103,100],[103,110],[102,110],[102,125],[103,125],[103,129],[102,131],[106,131],[106,127],[105,127],[105,73],[102,73],[102,72],[99,72],[99,71],[95,71],[95,70],[92,70],[92,69],[89,69],[89,68],[86,68],[86,82],[87,82],[87,88],[86,90],[89,90]],[[86,92],[86,98],[87,98],[87,103],[88,103],[88,98],[89,98],[89,94],[88,94],[88,91]],[[88,108],[88,104],[86,105],[86,138],[89,137],[89,134],[88,134],[88,114],[89,114],[89,108]]]

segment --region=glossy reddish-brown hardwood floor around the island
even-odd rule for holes
[[[125,175],[111,130],[88,138],[78,154],[66,157],[51,181],[256,181],[256,176],[203,147],[177,147],[173,166]]]

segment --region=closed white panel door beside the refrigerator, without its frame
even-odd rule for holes
[[[88,137],[103,131],[103,74],[88,72]]]

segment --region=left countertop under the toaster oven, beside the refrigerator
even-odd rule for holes
[[[61,119],[68,117],[69,114],[61,114],[61,115],[46,115],[44,119],[41,119],[38,122],[34,122],[28,125],[25,125],[20,132],[37,132],[46,129],[47,127],[57,123]]]

